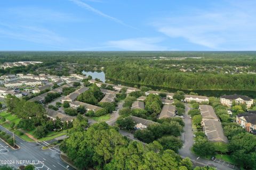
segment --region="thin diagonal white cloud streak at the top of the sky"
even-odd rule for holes
[[[103,18],[106,18],[106,19],[114,21],[116,23],[125,25],[126,27],[130,27],[130,28],[136,29],[136,28],[132,27],[131,25],[128,25],[128,24],[124,23],[123,21],[121,21],[121,20],[119,20],[119,19],[117,19],[117,18],[115,18],[113,16],[107,15],[107,14],[105,14],[105,13],[103,13],[103,12],[101,12],[101,11],[95,9],[95,8],[93,8],[92,6],[82,2],[82,1],[79,1],[79,0],[69,0],[69,1],[74,2],[76,5],[81,6],[81,7],[85,8],[88,11],[91,11],[91,12],[97,14],[97,15],[100,15]]]

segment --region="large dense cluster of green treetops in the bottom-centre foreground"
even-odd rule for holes
[[[169,149],[174,147],[171,142],[180,147],[175,137],[160,139],[164,147],[157,141],[143,146],[141,142],[126,140],[105,122],[93,124],[87,131],[72,131],[69,135],[60,148],[79,169],[193,169],[189,158],[182,159]]]

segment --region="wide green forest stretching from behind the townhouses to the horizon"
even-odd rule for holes
[[[0,52],[0,63],[43,64],[0,74],[102,70],[112,80],[184,90],[256,91],[256,52]]]

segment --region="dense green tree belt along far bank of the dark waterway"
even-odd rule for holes
[[[143,66],[110,66],[108,78],[175,89],[188,90],[256,90],[256,74],[181,73]]]

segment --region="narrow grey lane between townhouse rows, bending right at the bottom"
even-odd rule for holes
[[[196,165],[196,166],[213,166],[216,167],[217,169],[223,169],[223,170],[231,170],[233,166],[228,167],[224,164],[219,164],[215,163],[211,160],[203,159],[200,158],[196,155],[194,155],[190,149],[193,146],[194,143],[194,137],[193,137],[193,131],[192,131],[192,121],[189,118],[190,116],[188,115],[188,111],[190,110],[190,107],[188,104],[185,104],[185,118],[183,121],[185,122],[185,127],[184,127],[184,133],[183,135],[183,147],[179,150],[179,154],[184,158],[184,157],[189,157],[191,161]]]

